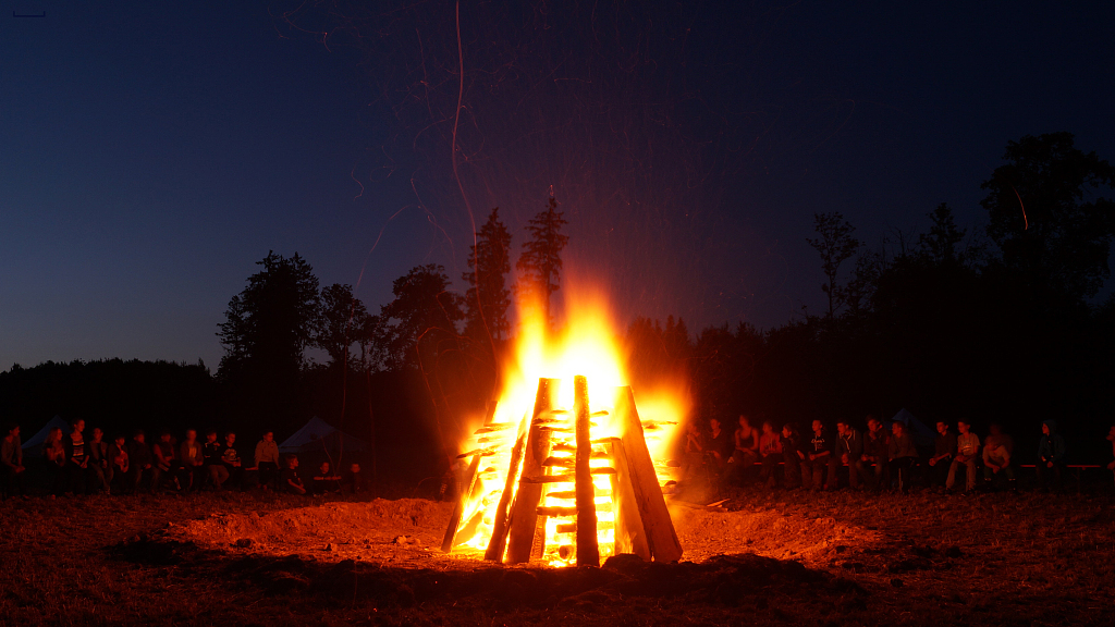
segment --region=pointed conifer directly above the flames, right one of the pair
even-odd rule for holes
[[[531,239],[523,243],[523,253],[515,262],[515,268],[522,272],[516,290],[521,297],[530,301],[541,302],[543,316],[550,322],[550,299],[561,289],[561,251],[569,243],[569,237],[563,235],[561,228],[566,224],[558,212],[558,201],[550,199],[545,211],[531,219],[526,231]]]

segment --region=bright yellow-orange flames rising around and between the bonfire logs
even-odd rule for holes
[[[612,463],[607,446],[598,444],[609,437],[620,437],[620,421],[615,418],[614,392],[629,385],[623,372],[623,357],[611,317],[602,299],[570,299],[566,322],[561,334],[550,336],[546,325],[539,317],[524,317],[513,360],[504,366],[504,389],[498,405],[487,423],[477,425],[476,433],[465,443],[464,451],[484,451],[476,474],[472,500],[465,504],[457,527],[457,547],[478,550],[488,548],[497,518],[497,507],[508,485],[507,474],[515,476],[510,483],[517,491],[522,460],[512,466],[513,447],[517,438],[530,430],[534,416],[535,394],[540,378],[560,379],[555,408],[550,412],[555,425],[551,436],[547,465],[551,474],[566,474],[574,465],[574,384],[576,375],[588,379],[591,408],[593,455],[589,464],[594,470],[592,483],[597,513],[597,541],[600,559],[615,553],[614,527],[618,503],[612,490],[615,485],[607,474]],[[534,310],[539,310],[534,308]],[[638,407],[646,433],[647,450],[655,463],[660,486],[675,481],[676,464],[668,461],[673,437],[679,433],[687,409],[685,395],[677,390],[639,390]],[[463,456],[468,462],[467,456]],[[599,472],[600,474],[597,474]],[[614,473],[614,471],[611,471]],[[575,509],[575,486],[569,482],[547,482],[540,502],[540,511],[569,512]],[[468,486],[464,486],[468,489]],[[511,494],[504,501],[513,501]],[[542,558],[554,566],[575,562],[576,517],[555,513],[545,518],[545,552]],[[492,559],[492,558],[489,558]],[[498,558],[502,560],[503,556]]]

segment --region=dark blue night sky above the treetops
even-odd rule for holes
[[[449,2],[0,4],[2,369],[215,367],[269,250],[372,311],[420,263],[463,290],[474,221],[517,250],[551,193],[621,320],[770,327],[821,305],[814,212],[878,248],[980,224],[1010,139],[1115,158],[1111,2],[466,1],[463,84]]]

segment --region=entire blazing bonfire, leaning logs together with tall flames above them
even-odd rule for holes
[[[673,464],[652,456],[663,456],[680,404],[656,403],[663,415],[640,418],[600,310],[572,316],[578,337],[556,346],[544,325],[527,325],[512,383],[458,456],[468,465],[444,551],[553,566],[681,557],[662,496]]]

